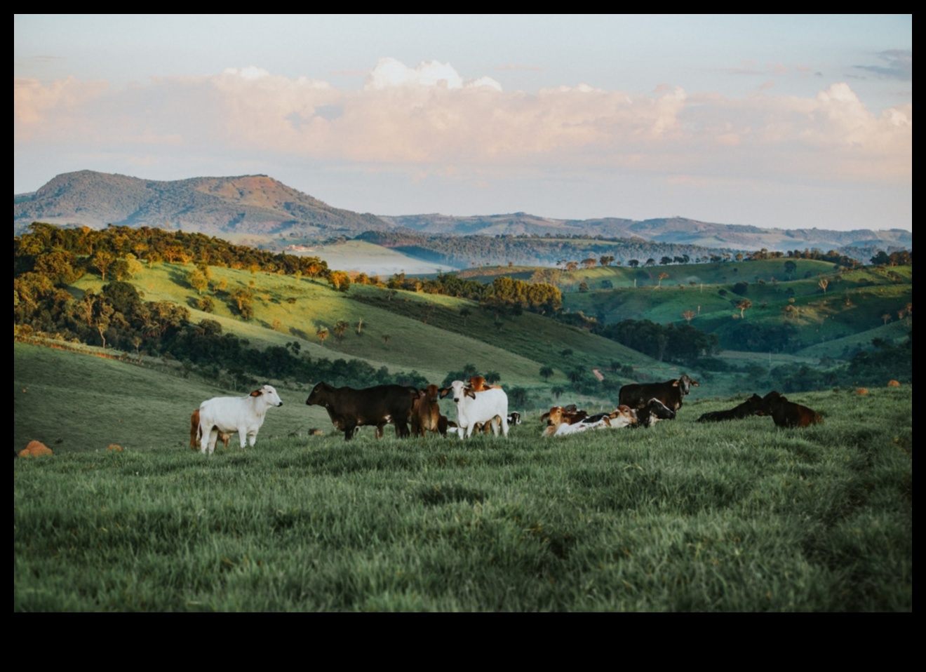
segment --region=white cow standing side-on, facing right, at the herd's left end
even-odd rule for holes
[[[200,452],[212,454],[219,432],[238,432],[241,447],[257,442],[257,430],[264,424],[270,406],[282,406],[277,391],[270,385],[251,392],[246,397],[215,397],[199,404]]]

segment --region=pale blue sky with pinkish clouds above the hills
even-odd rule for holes
[[[13,19],[13,193],[266,174],[376,215],[913,219],[912,15]]]

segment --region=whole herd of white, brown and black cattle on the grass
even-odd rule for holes
[[[553,406],[540,418],[545,422],[542,435],[652,427],[659,420],[674,419],[682,407],[682,399],[692,387],[698,387],[698,382],[687,374],[665,382],[624,385],[618,393],[618,407],[610,413],[589,415],[575,404]],[[439,405],[441,399],[451,394],[457,404],[456,422],[442,415]],[[228,447],[235,432],[238,432],[242,448],[247,442],[254,446],[267,410],[282,404],[279,394],[270,385],[245,397],[209,399],[190,417],[190,447],[199,448],[203,454],[212,454],[219,440]],[[481,376],[468,382],[454,380],[443,389],[428,385],[420,390],[404,385],[377,385],[355,390],[319,382],[309,393],[306,404],[322,406],[328,411],[334,428],[344,432],[345,441],[350,441],[363,426],[376,428],[376,437],[380,438],[382,429],[388,424],[395,426],[395,435],[401,438],[411,434],[424,437],[429,431],[442,436],[457,434],[461,439],[474,432],[489,431],[495,436],[501,433],[507,437],[509,426],[520,422],[518,413],[508,412],[505,391],[497,385],[486,384]],[[807,427],[823,421],[819,413],[789,402],[779,392],[769,392],[764,397],[753,394],[743,404],[705,413],[697,421],[720,422],[749,416],[771,416],[776,427],[788,428]]]

